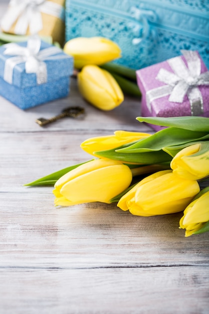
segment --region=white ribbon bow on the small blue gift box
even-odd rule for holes
[[[54,56],[60,54],[62,50],[52,46],[46,49],[41,48],[41,39],[34,35],[28,40],[27,47],[19,46],[15,43],[3,45],[6,50],[5,55],[14,56],[5,62],[4,80],[13,83],[13,71],[16,65],[25,63],[26,73],[35,73],[37,84],[47,82],[47,65],[44,60],[55,60],[68,57],[67,55]]]

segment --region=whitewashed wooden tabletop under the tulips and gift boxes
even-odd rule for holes
[[[0,4],[1,15],[6,5]],[[35,123],[69,105],[83,119]],[[208,234],[184,238],[182,213],[137,217],[116,205],[55,208],[53,188],[25,183],[91,159],[80,143],[136,121],[140,101],[109,112],[68,98],[23,111],[0,97],[0,313],[209,313]]]

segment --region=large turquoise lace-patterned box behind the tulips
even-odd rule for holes
[[[197,50],[209,68],[208,0],[66,0],[66,41],[107,37],[140,69]]]

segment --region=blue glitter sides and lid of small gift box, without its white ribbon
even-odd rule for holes
[[[18,46],[27,47],[27,44],[28,42],[23,42],[19,43]],[[73,58],[71,56],[66,55],[63,50],[55,46],[41,42],[39,52],[42,56],[47,49],[52,48],[53,53],[51,56],[42,58],[46,66],[46,82],[42,82],[42,77],[41,82],[37,82],[36,73],[26,73],[26,62],[16,64],[12,70],[10,68],[8,71],[6,62],[8,59],[14,58],[16,54],[6,55],[5,51],[9,47],[7,45],[0,47],[0,95],[21,109],[28,109],[68,96],[70,75],[73,72]],[[9,72],[10,80],[8,80]]]

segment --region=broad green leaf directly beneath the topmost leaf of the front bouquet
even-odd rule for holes
[[[128,145],[125,148],[117,149],[118,152],[139,153],[154,150],[161,150],[167,146],[180,145],[188,142],[209,139],[209,133],[184,130],[176,127],[162,129],[146,138]]]

